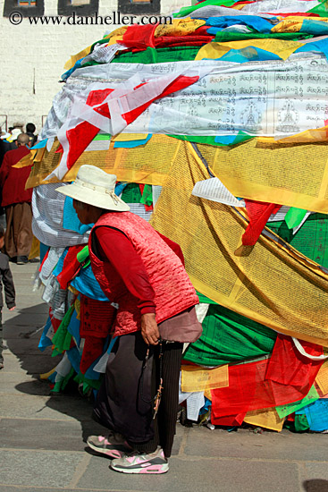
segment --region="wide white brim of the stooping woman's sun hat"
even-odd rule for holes
[[[99,191],[93,191],[88,188],[83,188],[72,182],[66,186],[61,186],[56,188],[55,191],[71,197],[71,199],[78,199],[83,203],[88,203],[88,205],[93,205],[97,208],[104,208],[105,210],[114,210],[116,212],[129,212],[130,207],[117,195],[112,198],[109,194],[99,193]]]

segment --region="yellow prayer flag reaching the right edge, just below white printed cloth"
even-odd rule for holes
[[[252,139],[232,147],[198,148],[234,196],[328,213],[325,142],[277,145]]]

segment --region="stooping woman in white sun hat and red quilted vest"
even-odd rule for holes
[[[95,224],[91,267],[118,305],[108,327],[117,339],[94,409],[111,433],[87,443],[114,458],[115,471],[164,473],[175,434],[182,344],[201,334],[198,296],[180,247],[130,213],[114,193],[115,182],[114,174],[82,165],[75,182],[57,189],[73,199],[80,222]]]

